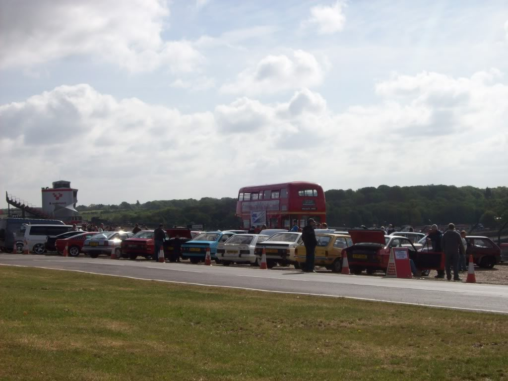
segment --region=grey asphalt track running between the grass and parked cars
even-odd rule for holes
[[[81,271],[135,279],[277,293],[344,297],[432,307],[508,313],[508,286],[464,282],[393,279],[330,272],[308,274],[288,268],[156,263],[46,255],[0,254],[1,266]],[[466,274],[464,274],[465,277]]]

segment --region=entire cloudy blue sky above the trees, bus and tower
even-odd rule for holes
[[[507,76],[505,0],[0,0],[0,190],[506,186]]]

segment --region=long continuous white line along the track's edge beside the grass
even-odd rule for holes
[[[5,263],[0,263],[0,266],[26,267],[26,268],[33,267],[33,266],[24,266],[24,265],[7,265]],[[291,292],[291,291],[275,291],[275,290],[251,289],[251,288],[247,288],[247,287],[236,287],[236,286],[219,285],[219,284],[203,284],[203,283],[194,283],[194,282],[181,282],[181,281],[176,281],[176,280],[165,280],[165,279],[138,278],[138,277],[127,276],[127,275],[102,274],[102,273],[98,273],[98,272],[81,271],[81,270],[70,270],[70,269],[55,269],[55,268],[51,268],[51,267],[37,267],[37,268],[39,268],[39,269],[46,269],[46,270],[74,271],[74,272],[81,272],[81,273],[92,274],[92,275],[116,276],[118,278],[129,278],[129,279],[137,279],[137,280],[150,280],[150,281],[154,281],[155,280],[155,281],[165,282],[165,283],[190,284],[190,285],[198,285],[198,286],[203,286],[203,287],[220,287],[220,288],[223,288],[223,289],[261,291],[261,292],[274,293],[274,294],[293,294],[293,295],[308,295],[308,296],[324,296],[324,297],[330,297],[330,298],[344,298],[344,299],[363,300],[363,301],[367,301],[367,302],[383,302],[383,303],[402,304],[402,305],[409,305],[409,306],[456,309],[456,310],[460,310],[460,311],[494,312],[494,313],[508,314],[508,311],[498,311],[498,310],[495,310],[495,309],[450,307],[450,306],[442,306],[442,305],[440,306],[440,305],[436,305],[436,304],[397,302],[397,301],[393,301],[393,300],[360,298],[360,297],[356,297],[356,296],[341,296],[341,295],[312,294],[312,293]]]

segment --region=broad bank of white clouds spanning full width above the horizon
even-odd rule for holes
[[[234,195],[246,183],[297,178],[353,188],[506,183],[501,78],[495,69],[394,75],[376,85],[379,102],[339,113],[308,88],[285,102],[240,97],[185,114],[86,84],[59,86],[0,106],[8,126],[0,158],[17,168],[2,180],[33,203],[37,187],[58,176],[79,180],[85,203]]]

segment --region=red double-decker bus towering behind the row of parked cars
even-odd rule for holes
[[[325,192],[320,184],[306,181],[245,186],[238,191],[236,215],[243,228],[290,229],[295,220],[303,228],[308,218],[324,223]]]

